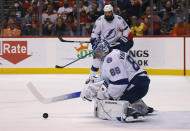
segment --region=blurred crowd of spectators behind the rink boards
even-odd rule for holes
[[[114,6],[135,36],[190,33],[186,0],[153,0],[152,5],[150,0],[79,0],[78,4],[76,0],[14,0],[1,36],[90,36],[105,4]]]

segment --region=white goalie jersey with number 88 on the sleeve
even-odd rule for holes
[[[101,70],[102,79],[108,82],[107,93],[114,99],[123,94],[136,74],[144,72],[127,53],[117,49],[105,57]]]

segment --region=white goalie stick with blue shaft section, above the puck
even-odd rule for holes
[[[73,92],[73,93],[55,96],[51,98],[45,98],[40,94],[40,92],[36,89],[36,87],[31,82],[27,84],[27,87],[32,92],[32,94],[43,104],[55,103],[59,101],[78,98],[80,97],[80,94],[81,94],[81,92]]]

